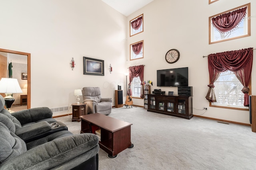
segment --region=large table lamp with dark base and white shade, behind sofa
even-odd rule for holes
[[[14,100],[12,96],[13,93],[22,93],[18,80],[16,78],[2,78],[0,80],[0,93],[4,93],[6,96],[4,97],[6,109],[12,113],[10,110]]]

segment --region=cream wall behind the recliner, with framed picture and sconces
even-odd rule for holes
[[[74,89],[84,86],[100,87],[114,106],[114,90],[126,81],[125,16],[101,0],[0,4],[0,48],[31,53],[31,107],[68,106],[76,102]],[[84,75],[84,56],[104,60],[105,76]]]

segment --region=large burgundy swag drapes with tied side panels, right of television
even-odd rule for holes
[[[214,94],[214,82],[218,79],[220,72],[230,70],[235,72],[238,80],[243,84],[244,88],[244,106],[249,105],[249,82],[252,73],[252,56],[253,49],[241,49],[236,51],[227,51],[222,53],[208,55],[208,69],[210,76],[209,90],[206,99],[209,102],[216,102]]]

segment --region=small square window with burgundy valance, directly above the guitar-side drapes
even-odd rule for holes
[[[139,41],[130,45],[130,60],[142,59],[144,49],[144,41]]]

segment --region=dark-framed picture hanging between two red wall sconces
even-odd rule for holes
[[[84,57],[84,74],[104,76],[104,60]]]

